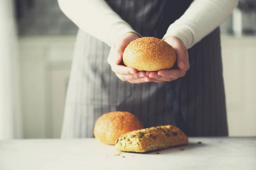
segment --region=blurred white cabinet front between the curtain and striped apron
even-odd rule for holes
[[[75,37],[20,39],[25,138],[58,138]]]

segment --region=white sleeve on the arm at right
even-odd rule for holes
[[[194,0],[185,13],[172,23],[167,36],[178,37],[186,48],[207,36],[232,14],[239,0]]]

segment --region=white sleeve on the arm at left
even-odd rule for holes
[[[138,34],[105,0],[58,0],[58,4],[79,28],[109,46],[125,33]]]

